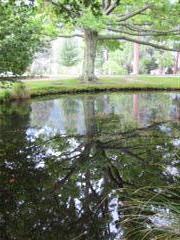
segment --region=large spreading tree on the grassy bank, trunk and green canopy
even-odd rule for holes
[[[165,45],[178,40],[180,4],[177,0],[46,0],[63,24],[84,39],[82,79],[95,79],[94,63],[98,41],[129,41],[175,51]],[[138,38],[141,36],[141,38]]]

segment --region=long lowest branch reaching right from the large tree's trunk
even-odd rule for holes
[[[153,47],[153,48],[157,48],[157,49],[162,49],[162,50],[166,50],[166,51],[172,51],[172,52],[179,52],[180,49],[174,49],[174,48],[168,48],[166,46],[163,46],[163,45],[159,45],[159,44],[156,44],[156,43],[151,43],[151,42],[145,42],[145,41],[141,41],[141,40],[138,40],[138,39],[134,39],[134,38],[129,38],[129,37],[126,37],[126,36],[122,36],[122,35],[99,35],[98,36],[98,40],[125,40],[125,41],[128,41],[128,42],[134,42],[134,43],[139,43],[141,45],[147,45],[147,46],[150,46],[150,47]]]

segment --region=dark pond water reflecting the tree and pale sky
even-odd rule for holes
[[[180,238],[180,94],[0,106],[0,239]]]

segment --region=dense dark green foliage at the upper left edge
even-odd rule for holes
[[[22,74],[43,46],[42,22],[35,7],[0,4],[0,73]]]

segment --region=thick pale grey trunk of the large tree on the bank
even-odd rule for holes
[[[84,60],[82,70],[82,80],[85,82],[93,81],[95,77],[95,58],[97,48],[97,32],[85,29],[84,30]]]

